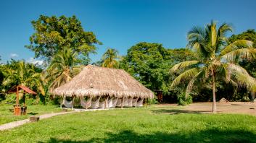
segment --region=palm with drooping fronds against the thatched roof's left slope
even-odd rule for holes
[[[62,84],[70,81],[72,77],[80,72],[81,66],[76,66],[78,53],[71,48],[65,47],[59,51],[51,60],[46,69],[45,77],[49,82],[49,90],[52,91]]]

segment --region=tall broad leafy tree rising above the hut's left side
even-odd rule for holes
[[[81,22],[75,17],[47,17],[41,15],[32,22],[34,30],[30,45],[26,48],[35,52],[35,57],[50,61],[65,46],[78,53],[80,62],[88,62],[88,53],[95,52],[95,44],[100,44],[93,32],[83,30]]]

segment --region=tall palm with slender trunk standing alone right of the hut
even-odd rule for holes
[[[186,70],[173,80],[171,87],[189,79],[186,87],[186,97],[194,84],[211,81],[212,84],[212,113],[216,113],[215,80],[224,80],[236,86],[247,87],[256,92],[256,80],[237,64],[242,59],[255,58],[256,50],[249,40],[236,40],[228,43],[226,34],[232,31],[230,25],[224,23],[216,28],[216,22],[205,27],[194,27],[188,34],[188,48],[195,51],[199,61],[183,61],[173,66],[170,71]]]

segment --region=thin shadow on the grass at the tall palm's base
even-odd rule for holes
[[[183,110],[183,109],[159,109],[152,110],[153,113],[168,113],[168,114],[180,114],[180,113],[210,113],[209,110]]]

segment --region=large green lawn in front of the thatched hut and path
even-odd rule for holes
[[[256,117],[151,106],[54,116],[0,134],[0,142],[256,142]]]

